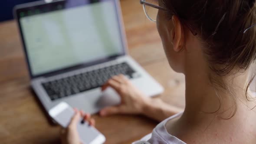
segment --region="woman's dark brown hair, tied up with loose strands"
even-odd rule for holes
[[[210,69],[217,77],[245,72],[255,62],[256,26],[244,33],[245,29],[256,23],[255,0],[162,1],[168,11],[197,31],[204,44],[203,51]],[[252,81],[253,78],[248,83]],[[211,79],[211,82],[225,90],[229,89],[216,79]]]

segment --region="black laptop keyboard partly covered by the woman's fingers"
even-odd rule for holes
[[[50,99],[54,101],[59,98],[101,87],[112,76],[119,74],[127,75],[128,78],[131,79],[134,77],[133,75],[135,74],[135,71],[126,62],[124,62],[80,73],[78,75],[45,82],[42,85]]]

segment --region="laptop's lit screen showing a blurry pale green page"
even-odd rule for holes
[[[123,52],[115,0],[66,0],[17,14],[31,75]]]

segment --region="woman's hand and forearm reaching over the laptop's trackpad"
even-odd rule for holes
[[[121,97],[121,104],[104,108],[100,111],[100,115],[114,115],[114,114],[141,114],[157,121],[164,119],[183,111],[168,105],[160,98],[149,98],[140,92],[134,85],[124,76],[118,75],[109,79],[108,82],[102,86],[102,91],[108,87],[112,87]]]

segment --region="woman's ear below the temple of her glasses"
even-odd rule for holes
[[[174,29],[172,30],[174,51],[179,52],[184,46],[184,29],[181,25],[181,21],[175,15],[172,16],[172,23],[174,25]]]

